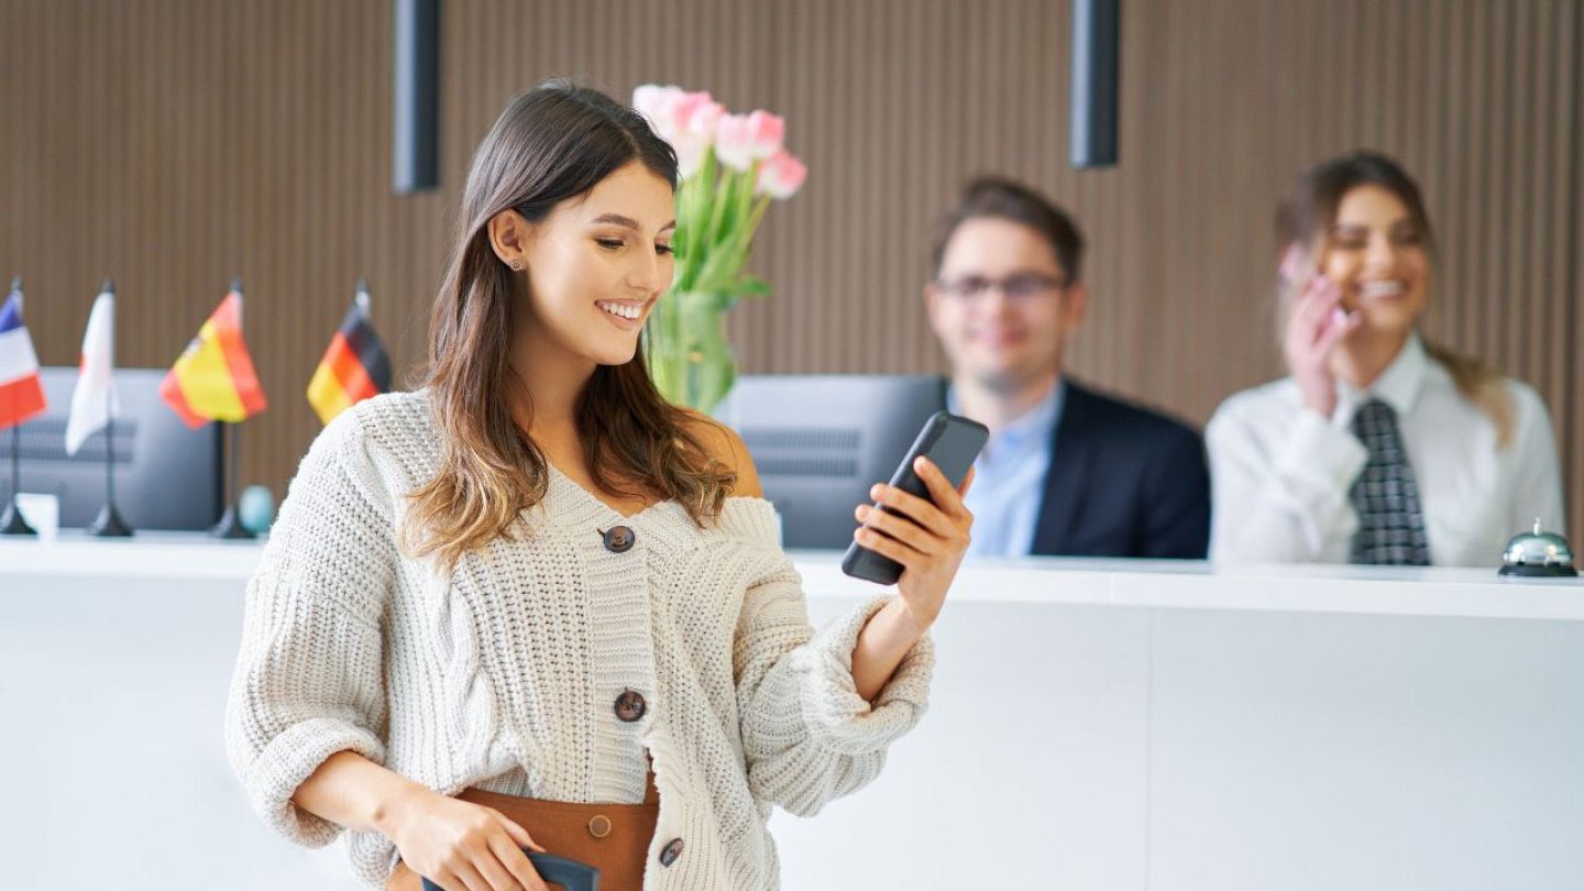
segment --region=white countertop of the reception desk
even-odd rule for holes
[[[5,577],[139,577],[242,582],[261,542],[141,533],[0,539]],[[792,552],[809,596],[860,598],[873,585],[841,574],[836,552]],[[0,593],[6,587],[0,587]],[[1077,606],[1337,612],[1449,618],[1584,621],[1584,582],[1503,579],[1495,569],[1215,566],[1172,560],[1033,556],[966,563],[952,599]]]

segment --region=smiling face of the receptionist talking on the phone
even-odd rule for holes
[[[1408,206],[1380,185],[1342,197],[1319,271],[1342,287],[1343,309],[1357,309],[1361,328],[1400,335],[1424,312],[1430,254]]]

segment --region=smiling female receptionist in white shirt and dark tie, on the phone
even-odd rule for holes
[[[1212,560],[1495,566],[1536,517],[1560,531],[1544,403],[1419,333],[1435,241],[1413,179],[1372,152],[1318,163],[1277,236],[1291,374],[1205,430]]]

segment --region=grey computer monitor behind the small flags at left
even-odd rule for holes
[[[116,509],[133,530],[208,530],[220,518],[220,425],[188,428],[160,400],[165,369],[117,368]],[[22,491],[60,499],[60,528],[87,526],[105,506],[105,431],[67,457],[76,368],[43,368],[44,414],[22,425]],[[11,431],[0,430],[0,493],[11,499]]]

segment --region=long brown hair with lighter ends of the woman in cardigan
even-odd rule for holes
[[[532,411],[512,369],[512,333],[524,319],[526,276],[489,244],[489,219],[516,209],[542,222],[561,201],[586,195],[618,168],[640,162],[676,187],[676,155],[632,109],[586,87],[551,81],[507,105],[474,155],[456,246],[429,319],[425,385],[442,430],[440,468],[412,491],[402,542],[450,571],[467,552],[505,536],[543,501],[550,465],[518,426]],[[578,433],[596,485],[624,496],[678,501],[705,525],[719,515],[735,474],[699,441],[697,415],[668,404],[638,350],[597,366],[578,398]]]

